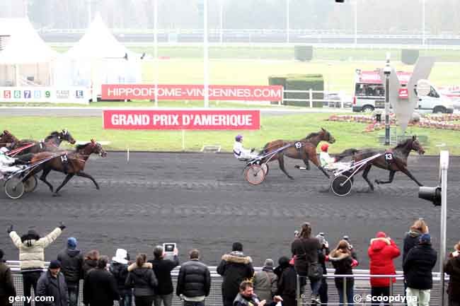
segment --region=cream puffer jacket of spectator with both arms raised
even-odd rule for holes
[[[12,231],[10,233],[11,240],[19,249],[19,266],[21,271],[45,269],[45,248],[61,235],[60,228],[54,230],[45,237],[31,237],[30,235],[23,236],[23,240],[18,233]],[[30,236],[30,237],[28,237]]]

